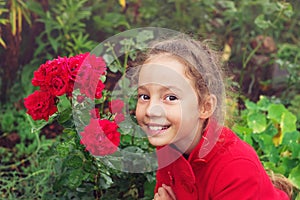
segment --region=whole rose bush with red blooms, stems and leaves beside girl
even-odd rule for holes
[[[150,30],[120,35],[92,51],[101,57],[91,53],[58,57],[34,72],[37,90],[24,99],[34,133],[54,121],[64,127],[54,144],[39,152],[38,162],[46,163],[49,171],[43,180],[47,179],[50,194],[68,199],[137,199],[145,190],[140,183],[146,180],[153,191],[155,149],[136,124],[137,93],[131,79],[135,73],[127,71],[129,61],[153,37]],[[108,71],[121,75],[113,90],[105,83]]]

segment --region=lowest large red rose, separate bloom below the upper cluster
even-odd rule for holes
[[[80,143],[94,156],[105,156],[117,151],[120,144],[118,125],[107,119],[91,119],[81,132]]]

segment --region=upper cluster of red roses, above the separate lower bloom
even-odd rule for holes
[[[89,53],[48,60],[34,72],[32,84],[40,90],[24,99],[27,113],[34,120],[48,120],[57,111],[57,96],[71,97],[76,88],[83,98],[101,98],[105,85],[99,78],[105,71],[104,60]]]

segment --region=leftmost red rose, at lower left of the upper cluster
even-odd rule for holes
[[[57,111],[55,97],[46,91],[35,91],[24,99],[24,105],[33,120],[44,119],[48,121],[49,116]]]

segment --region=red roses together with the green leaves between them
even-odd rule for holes
[[[118,99],[108,101],[105,76],[105,61],[90,53],[48,60],[34,72],[32,84],[39,90],[24,99],[27,113],[33,120],[71,121],[62,125],[75,130],[71,110],[90,109],[90,116],[81,117],[85,118],[82,121],[89,120],[80,124],[85,126],[79,131],[80,143],[94,156],[113,154],[120,144],[118,123],[124,120],[124,103]],[[108,105],[109,109],[100,104]],[[90,105],[95,106],[89,108]]]

